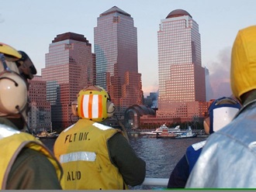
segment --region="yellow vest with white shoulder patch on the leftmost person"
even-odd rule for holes
[[[57,177],[61,181],[62,168],[61,164],[57,162],[54,155],[43,146],[43,143],[39,139],[36,139],[33,135],[26,132],[20,132],[8,125],[0,125],[0,184],[1,190],[6,189],[9,173],[12,169],[12,165],[15,162],[19,152],[26,148],[33,149],[39,153],[43,153],[50,160],[50,163],[55,167]],[[38,165],[40,166],[40,165]]]

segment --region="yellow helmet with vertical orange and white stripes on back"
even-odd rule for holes
[[[94,122],[108,118],[107,102],[109,94],[99,86],[89,86],[78,94],[78,116]]]

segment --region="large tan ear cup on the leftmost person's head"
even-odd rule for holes
[[[9,69],[3,53],[0,53],[0,63],[3,66],[0,72],[0,116],[19,114],[28,101],[26,81]]]

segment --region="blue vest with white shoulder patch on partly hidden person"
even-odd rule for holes
[[[189,163],[189,173],[191,173],[197,159],[199,159],[199,155],[202,152],[202,147],[205,144],[206,144],[206,141],[197,142],[187,148],[185,155]]]

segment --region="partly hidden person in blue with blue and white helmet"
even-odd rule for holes
[[[240,104],[233,98],[222,97],[211,103],[208,109],[208,117],[203,126],[207,135],[212,134],[231,122]],[[179,160],[168,180],[168,188],[184,188],[206,141],[197,142],[186,149],[186,153]]]

